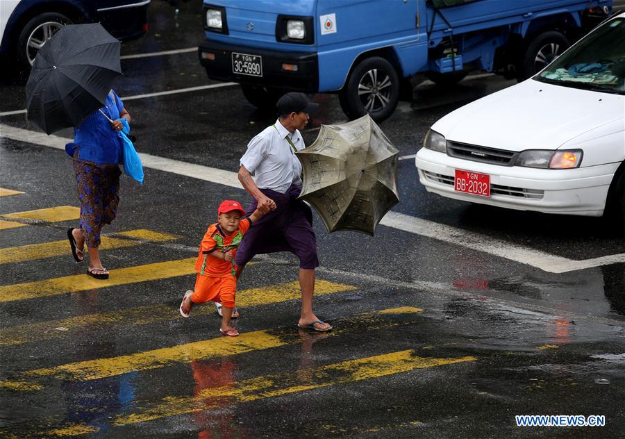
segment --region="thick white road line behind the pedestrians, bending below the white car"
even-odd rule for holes
[[[0,124],[0,137],[62,150],[65,150],[66,143],[72,142],[72,139],[62,138],[56,135],[45,135],[44,133],[28,131],[3,124]],[[141,157],[143,166],[150,169],[158,169],[163,172],[242,189],[236,172],[195,165],[193,163],[172,160],[170,158],[152,156],[151,154],[139,153],[139,156]],[[538,251],[522,245],[512,244],[505,240],[490,238],[481,233],[474,233],[472,231],[458,229],[457,227],[447,226],[445,224],[397,212],[387,213],[380,224],[400,231],[449,242],[452,245],[482,251],[500,258],[514,260],[515,262],[530,265],[531,267],[536,267],[551,273],[566,273],[599,267],[601,265],[625,263],[625,253],[602,256],[600,258],[573,260],[547,254],[543,251]]]

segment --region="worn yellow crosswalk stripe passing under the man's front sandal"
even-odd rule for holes
[[[338,336],[341,333],[348,332],[350,326],[358,322],[366,322],[368,331],[408,324],[410,322],[397,322],[392,319],[387,319],[386,317],[398,314],[412,315],[421,312],[421,308],[406,306],[394,308],[394,310],[363,313],[337,320],[337,329],[327,334],[328,336]],[[348,322],[349,324],[347,324]],[[42,376],[65,380],[88,381],[122,375],[128,372],[153,370],[160,367],[189,363],[190,361],[204,360],[207,358],[244,354],[250,351],[291,345],[297,342],[301,342],[301,338],[293,331],[289,333],[253,331],[242,333],[237,338],[211,338],[209,340],[153,349],[136,354],[98,358],[90,361],[78,361],[76,363],[67,363],[56,367],[31,370],[24,372],[24,374],[21,374],[21,376],[15,380],[0,381],[0,387],[11,388],[13,390],[38,390],[42,388],[42,386],[31,380]]]

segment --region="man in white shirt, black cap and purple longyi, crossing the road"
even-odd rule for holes
[[[265,213],[244,236],[236,254],[238,275],[256,254],[290,251],[299,257],[301,315],[297,326],[313,331],[329,331],[332,326],[313,313],[317,241],[313,213],[298,200],[301,192],[301,163],[294,152],[306,147],[299,130],[308,124],[309,113],[318,103],[303,93],[287,93],[276,104],[280,117],[272,126],[250,140],[240,160],[238,173],[243,188],[253,197],[248,208]],[[256,182],[251,177],[256,177]]]

